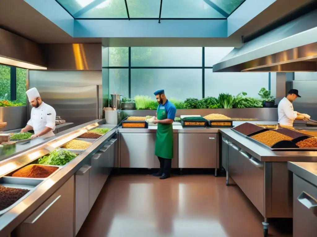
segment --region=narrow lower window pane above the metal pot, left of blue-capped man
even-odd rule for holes
[[[129,97],[129,69],[109,69],[109,91]]]

